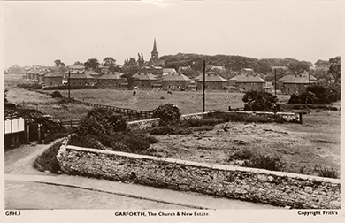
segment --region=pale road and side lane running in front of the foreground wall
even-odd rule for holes
[[[281,210],[280,207],[268,204],[207,196],[195,192],[35,170],[33,167],[35,158],[53,143],[25,145],[5,152],[5,209]],[[23,199],[27,196],[31,198]]]

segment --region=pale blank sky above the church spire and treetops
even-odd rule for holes
[[[5,2],[4,67],[183,53],[341,55],[342,1]]]

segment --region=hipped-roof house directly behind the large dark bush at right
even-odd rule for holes
[[[258,76],[237,75],[229,80],[228,85],[235,86],[236,88],[241,88],[246,91],[263,91],[266,87],[266,81]]]

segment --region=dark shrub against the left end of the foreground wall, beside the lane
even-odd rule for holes
[[[39,158],[35,159],[34,168],[38,171],[50,171],[50,173],[59,173],[57,154],[61,147],[61,142],[54,143],[48,150],[45,150]]]

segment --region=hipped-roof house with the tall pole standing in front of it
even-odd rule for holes
[[[224,90],[227,85],[227,80],[214,73],[206,73],[205,75],[205,89],[206,90]],[[203,74],[196,77],[196,89],[203,89]]]

